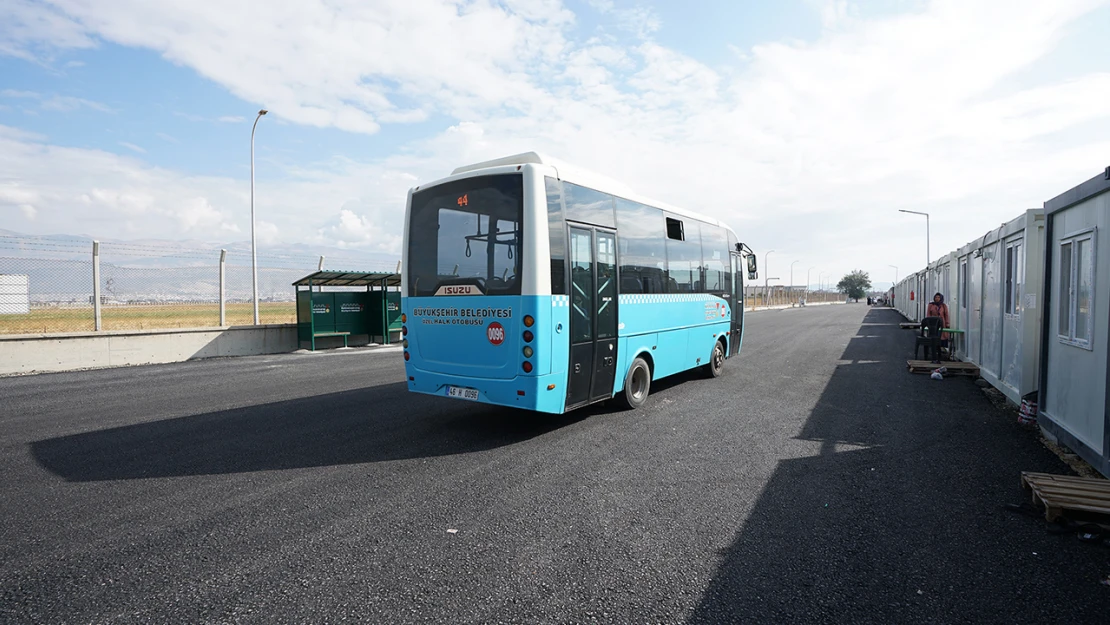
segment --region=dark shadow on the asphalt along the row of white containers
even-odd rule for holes
[[[1104,551],[1001,510],[1067,466],[971,380],[909,374],[898,319],[867,313],[689,623],[1106,618]]]

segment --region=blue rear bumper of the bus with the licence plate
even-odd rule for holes
[[[566,373],[549,375],[519,375],[512,380],[490,380],[422,371],[405,367],[408,390],[413,393],[438,395],[460,402],[477,402],[498,406],[512,406],[538,412],[562,414],[566,405]],[[451,397],[451,386],[473,389],[478,392],[476,400]],[[551,389],[548,389],[551,386]]]

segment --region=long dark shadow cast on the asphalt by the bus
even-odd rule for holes
[[[565,415],[416,395],[386,384],[31,443],[71,482],[213,475],[482,452],[606,410]]]

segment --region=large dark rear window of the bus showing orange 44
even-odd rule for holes
[[[408,295],[521,294],[524,178],[483,175],[413,193]]]

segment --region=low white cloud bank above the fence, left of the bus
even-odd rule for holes
[[[250,235],[246,180],[188,175],[111,152],[44,141],[0,125],[0,208],[37,215],[34,224],[23,226],[30,233],[221,240]],[[67,174],[60,177],[60,171]],[[397,253],[397,206],[420,179],[442,172],[423,159],[397,164],[337,159],[260,173],[259,241]]]

